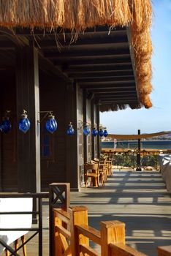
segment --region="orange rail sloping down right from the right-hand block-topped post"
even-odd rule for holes
[[[110,256],[145,256],[142,252],[125,244],[110,244]]]

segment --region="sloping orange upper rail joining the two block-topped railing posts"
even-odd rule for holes
[[[79,233],[83,234],[83,236],[88,237],[96,244],[101,244],[101,236],[99,230],[96,230],[94,227],[90,227],[88,225],[77,225],[77,229]]]

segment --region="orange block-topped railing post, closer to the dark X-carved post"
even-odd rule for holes
[[[69,208],[71,216],[71,247],[72,255],[80,256],[80,244],[89,245],[86,236],[79,234],[76,225],[88,225],[88,210],[85,206]]]

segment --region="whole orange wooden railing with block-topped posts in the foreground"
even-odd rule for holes
[[[125,244],[125,224],[117,220],[100,222],[101,230],[88,225],[85,206],[69,207],[68,211],[53,209],[53,256],[145,256]],[[99,244],[100,251],[92,248],[89,240]],[[158,256],[170,256],[171,246],[158,248]]]

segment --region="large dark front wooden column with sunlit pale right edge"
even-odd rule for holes
[[[27,111],[31,127],[18,129],[18,192],[40,192],[39,69],[34,43],[16,48],[17,121]]]

